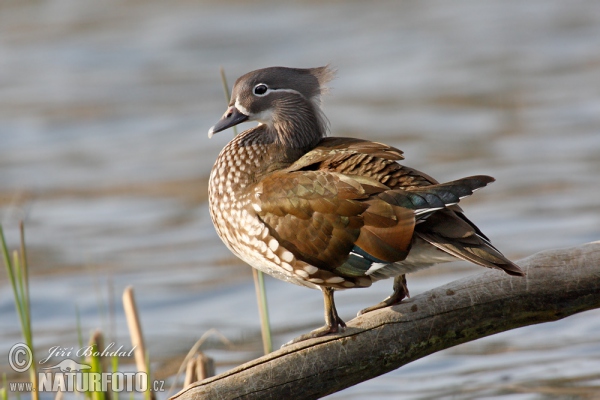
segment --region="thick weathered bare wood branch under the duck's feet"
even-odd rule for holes
[[[518,262],[525,278],[487,270],[350,321],[343,334],[275,351],[174,396],[310,399],[494,333],[600,308],[600,242]]]

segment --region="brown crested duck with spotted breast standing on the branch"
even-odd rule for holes
[[[229,107],[208,132],[244,121],[209,180],[212,222],[225,245],[252,267],[323,292],[325,326],[290,343],[345,328],[335,290],[394,278],[393,293],[360,314],[408,296],[405,275],[467,260],[522,276],[457,203],[494,181],[471,176],[439,183],[406,167],[382,143],[327,137],[321,96],[334,72],[271,67],[234,84]]]

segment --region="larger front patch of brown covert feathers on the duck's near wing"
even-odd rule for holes
[[[296,257],[326,270],[347,258],[363,226],[368,194],[361,185],[324,171],[277,173],[258,188],[258,216]]]

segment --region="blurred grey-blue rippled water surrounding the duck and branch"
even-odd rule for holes
[[[513,259],[598,240],[599,48],[593,1],[3,2],[0,222],[11,246],[26,224],[38,353],[76,346],[76,307],[84,335],[101,328],[128,344],[119,304],[132,284],[157,374],[172,375],[168,361],[211,328],[235,343],[204,345],[218,372],[260,355],[251,271],[221,244],[206,204],[231,138],[206,138],[225,109],[220,66],[231,84],[255,68],[331,63],[333,134],[397,146],[439,180],[496,177],[465,208]],[[474,271],[417,274],[411,293]],[[6,354],[20,330],[0,286]],[[267,286],[276,346],[322,324],[319,293]],[[342,317],[390,289],[340,293]],[[592,311],[494,335],[330,398],[597,387],[599,329]]]

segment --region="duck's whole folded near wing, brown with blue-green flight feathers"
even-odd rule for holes
[[[316,267],[309,278],[338,276],[366,286],[370,279],[360,278],[373,264],[406,258],[417,222],[490,180],[470,177],[406,191],[364,176],[280,171],[256,186],[253,208],[278,245]]]

